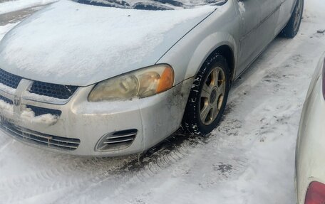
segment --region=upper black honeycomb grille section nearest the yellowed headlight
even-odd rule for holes
[[[70,98],[74,92],[78,89],[77,86],[68,86],[68,85],[56,85],[46,82],[33,82],[29,92],[36,95],[43,95],[47,97],[54,97],[61,100],[67,100]]]

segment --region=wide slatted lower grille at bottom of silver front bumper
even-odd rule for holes
[[[72,139],[61,136],[53,136],[43,134],[37,131],[24,129],[9,122],[0,122],[0,128],[11,136],[21,141],[26,141],[31,144],[47,146],[52,149],[73,151],[78,148],[80,139]]]

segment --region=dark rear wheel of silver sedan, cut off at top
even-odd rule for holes
[[[294,38],[299,31],[302,13],[304,11],[304,0],[296,0],[296,6],[294,6],[294,11],[292,16],[287,23],[287,26],[283,28],[280,36],[284,38]]]

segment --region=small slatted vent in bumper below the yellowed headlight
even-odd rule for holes
[[[115,131],[110,134],[105,134],[102,139],[98,141],[98,144],[96,145],[96,150],[110,151],[117,149],[125,149],[133,143],[137,133],[137,129],[127,129],[123,131]]]

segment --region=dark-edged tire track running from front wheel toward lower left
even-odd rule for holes
[[[115,183],[115,185],[111,186],[112,189],[105,188],[105,190],[113,192],[113,195],[120,195],[120,192],[123,192],[127,186],[138,182],[143,183],[163,169],[184,159],[189,154],[190,149],[194,149],[200,144],[202,144],[201,139],[191,139],[191,136],[175,134],[139,158],[128,161],[115,171],[98,175],[96,181],[84,183],[81,188],[73,189],[68,193],[68,196],[63,196],[54,203],[74,203],[76,202],[76,195],[86,195],[88,192],[93,192],[94,189],[100,192],[102,186],[107,183]],[[105,193],[96,193],[96,197],[100,197],[100,195],[103,196]],[[88,201],[91,201],[91,198]]]

